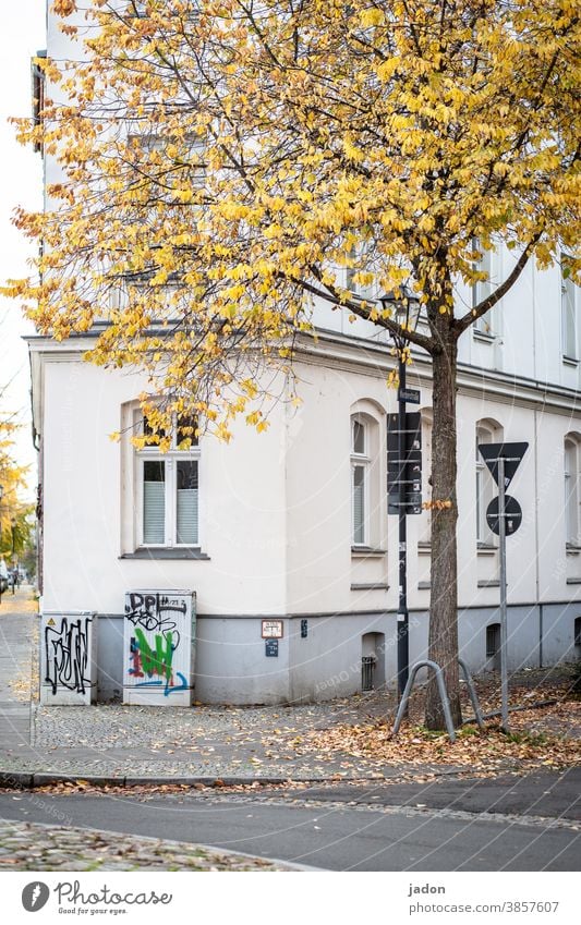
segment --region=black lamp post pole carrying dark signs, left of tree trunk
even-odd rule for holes
[[[399,457],[399,607],[398,607],[398,696],[401,701],[408,683],[410,646],[408,636],[408,532],[406,521],[406,483],[408,466],[406,459],[406,363],[399,358],[398,392],[398,457]]]

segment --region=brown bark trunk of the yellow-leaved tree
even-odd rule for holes
[[[456,526],[456,373],[458,342],[441,317],[440,349],[433,354],[432,429],[432,591],[428,657],[444,670],[455,727],[462,722],[458,674],[458,599]],[[425,725],[446,729],[434,677],[427,685]]]

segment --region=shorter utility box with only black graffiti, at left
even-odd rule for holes
[[[87,706],[97,699],[97,617],[88,610],[40,616],[40,703]]]

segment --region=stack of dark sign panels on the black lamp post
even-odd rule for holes
[[[413,391],[413,390],[412,390]],[[417,393],[419,394],[419,393]],[[387,513],[399,514],[399,489],[403,486],[406,514],[422,513],[422,419],[406,414],[403,455],[399,452],[399,414],[387,415]]]

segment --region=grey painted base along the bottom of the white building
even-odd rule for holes
[[[580,658],[581,646],[576,645],[576,620],[580,617],[581,604],[509,607],[509,672]],[[395,687],[395,613],[286,617],[278,656],[267,655],[267,643],[262,638],[263,619],[198,614],[195,701],[238,705],[314,703],[349,696],[370,683],[372,687]],[[459,612],[460,653],[472,674],[497,667],[498,655],[487,655],[487,642],[489,646],[494,633],[487,634],[486,630],[498,621],[497,608],[467,608]],[[410,613],[411,664],[427,657],[427,624],[426,611]],[[99,614],[98,658],[99,701],[121,699],[122,614]]]

